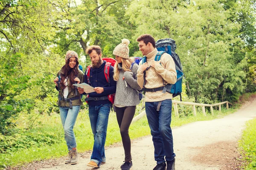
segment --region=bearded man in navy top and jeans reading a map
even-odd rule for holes
[[[89,167],[100,167],[106,163],[105,141],[107,136],[108,115],[111,109],[111,102],[108,100],[109,94],[116,93],[116,81],[113,79],[114,68],[110,67],[109,79],[110,85],[105,78],[105,64],[102,60],[102,50],[99,45],[87,47],[86,53],[90,56],[92,65],[90,68],[90,77],[84,75],[84,82],[94,87],[95,92],[90,93],[88,100],[90,124],[94,136],[93,153]],[[89,82],[88,82],[89,79]],[[82,88],[78,88],[80,94],[84,93]]]

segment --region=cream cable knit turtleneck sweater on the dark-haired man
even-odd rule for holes
[[[155,56],[157,55],[157,49],[155,48],[154,51],[148,53],[146,55],[148,67],[154,62],[155,67],[150,67],[148,70],[146,70],[146,84],[145,88],[159,88],[164,86],[164,84],[175,84],[177,80],[177,73],[175,69],[175,62],[172,59],[172,57],[165,53],[161,56],[161,65],[157,64],[156,61],[154,61]],[[140,65],[142,62],[140,62]],[[164,79],[164,82],[163,82]],[[143,71],[138,68],[137,70],[137,82],[138,85],[140,85],[141,88],[143,88]],[[165,99],[172,99],[172,94],[166,92],[162,93],[162,91],[156,91],[156,92],[146,92],[145,94],[145,102],[159,102],[163,101]]]

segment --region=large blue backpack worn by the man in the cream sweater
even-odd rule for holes
[[[172,94],[173,97],[180,95],[180,101],[181,99],[181,92],[182,92],[182,77],[184,76],[183,70],[182,70],[182,65],[180,62],[180,57],[178,54],[175,53],[176,50],[176,45],[175,45],[175,40],[171,38],[166,38],[166,39],[161,39],[157,40],[156,42],[156,48],[157,51],[159,51],[155,57],[155,61],[159,61],[161,56],[164,53],[170,54],[172,56],[172,59],[175,62],[175,68],[177,72],[177,82],[173,84],[167,84],[164,87],[160,88],[154,88],[154,89],[146,89],[145,88],[145,71],[144,71],[144,83],[143,83],[143,90],[145,91],[160,91],[163,90],[163,93],[169,92]],[[142,59],[142,64],[146,62],[146,57],[143,57]]]

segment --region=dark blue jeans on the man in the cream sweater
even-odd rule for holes
[[[159,111],[157,111],[158,103],[145,102],[145,110],[154,144],[154,158],[157,164],[161,164],[165,162],[165,159],[166,161],[172,161],[175,157],[170,126],[172,120],[172,99],[163,100]]]

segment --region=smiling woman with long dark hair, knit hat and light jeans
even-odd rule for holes
[[[69,159],[65,164],[76,164],[78,153],[76,150],[76,138],[73,127],[80,110],[81,96],[73,84],[84,82],[84,73],[79,70],[78,55],[75,51],[67,51],[65,65],[58,71],[57,77],[53,80],[58,94],[58,105],[61,115],[61,123],[65,132],[65,140],[69,150]]]

